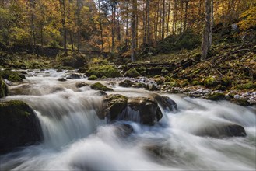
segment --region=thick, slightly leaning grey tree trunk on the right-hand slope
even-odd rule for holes
[[[205,60],[209,51],[209,34],[211,24],[211,1],[205,0],[205,26],[202,35],[202,56],[201,60]]]

